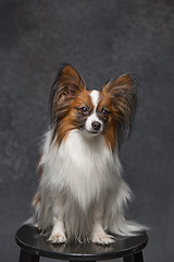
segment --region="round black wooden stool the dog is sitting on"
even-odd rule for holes
[[[40,257],[69,261],[98,261],[123,258],[124,262],[142,262],[142,249],[148,242],[144,231],[136,237],[120,237],[110,246],[95,243],[52,245],[30,225],[21,227],[15,236],[21,247],[20,262],[38,262]]]

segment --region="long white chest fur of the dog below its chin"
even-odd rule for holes
[[[79,130],[73,130],[60,146],[44,148],[42,187],[72,194],[82,207],[116,183],[120,177],[120,162],[114,159],[102,135],[86,138]],[[47,148],[46,148],[47,147]]]

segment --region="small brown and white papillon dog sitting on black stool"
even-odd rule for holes
[[[49,241],[110,245],[140,225],[124,217],[130,190],[122,178],[120,147],[130,130],[136,80],[123,74],[102,91],[86,84],[70,64],[51,90],[51,126],[45,135],[34,196],[35,225]]]

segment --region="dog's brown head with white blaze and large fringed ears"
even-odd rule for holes
[[[59,142],[71,130],[78,129],[84,135],[104,135],[114,148],[130,130],[136,109],[137,82],[130,74],[108,81],[101,92],[87,91],[84,80],[70,64],[64,66],[51,90],[51,120],[58,131]]]

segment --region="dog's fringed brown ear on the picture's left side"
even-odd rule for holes
[[[58,73],[50,94],[51,122],[64,117],[72,100],[85,88],[77,71],[71,64],[65,64]]]

